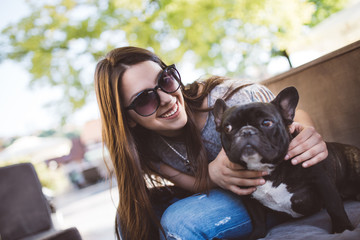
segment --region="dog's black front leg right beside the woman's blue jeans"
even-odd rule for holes
[[[258,238],[265,237],[266,208],[262,204],[260,204],[256,199],[253,199],[250,196],[244,196],[242,199],[245,208],[250,215],[251,224],[252,224],[252,232],[247,239],[255,240]]]

